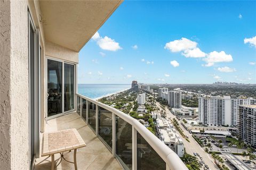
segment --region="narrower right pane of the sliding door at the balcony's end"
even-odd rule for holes
[[[64,112],[74,109],[74,65],[64,64]]]

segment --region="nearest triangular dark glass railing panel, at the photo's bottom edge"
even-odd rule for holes
[[[166,163],[137,132],[137,169],[166,169]]]

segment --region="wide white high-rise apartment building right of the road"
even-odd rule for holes
[[[255,99],[237,99],[224,97],[211,97],[198,99],[199,120],[204,125],[235,126],[238,122],[239,105],[251,105],[255,103]]]

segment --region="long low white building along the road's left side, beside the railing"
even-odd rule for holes
[[[156,129],[159,139],[171,148],[179,157],[184,155],[184,145],[177,131],[169,120],[165,118],[156,119]]]

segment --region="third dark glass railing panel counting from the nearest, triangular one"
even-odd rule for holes
[[[99,135],[112,148],[112,112],[99,106]]]

